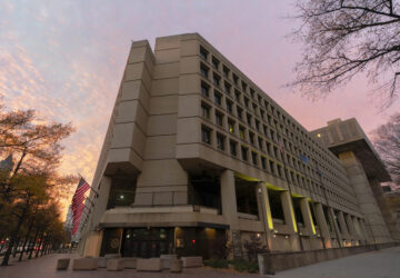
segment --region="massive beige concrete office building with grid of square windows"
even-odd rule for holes
[[[390,242],[379,203],[390,178],[348,122],[307,131],[198,33],[158,38],[154,51],[136,41],[82,252],[209,258],[229,242],[246,257],[254,238],[273,251]]]

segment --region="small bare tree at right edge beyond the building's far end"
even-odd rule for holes
[[[393,181],[400,183],[400,112],[373,131],[373,145]]]

